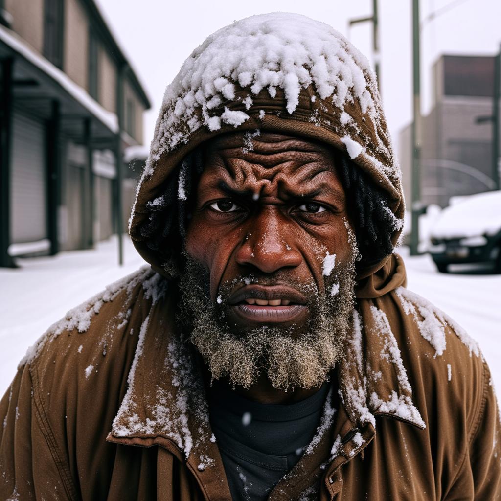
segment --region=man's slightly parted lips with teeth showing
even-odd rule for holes
[[[293,323],[308,314],[303,294],[288,286],[249,285],[229,298],[234,315],[246,324]]]

